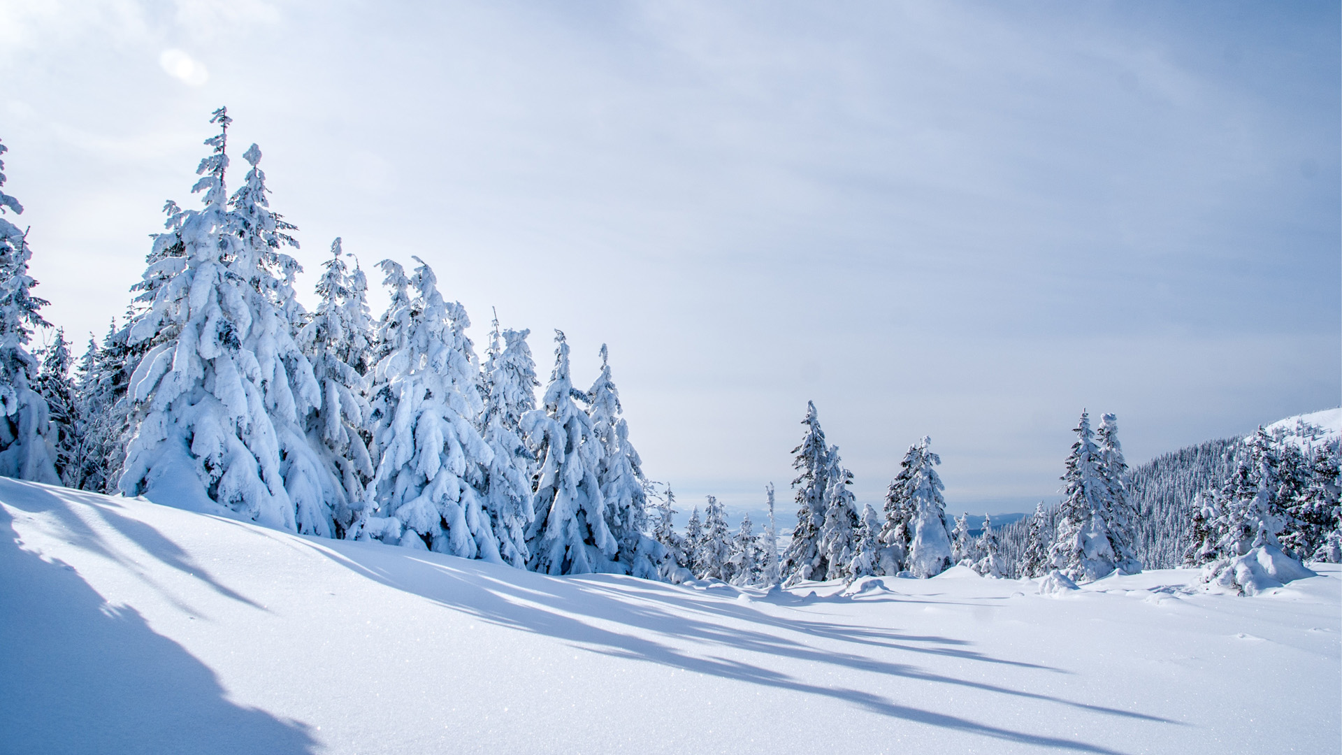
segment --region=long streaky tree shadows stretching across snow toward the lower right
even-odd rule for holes
[[[549,578],[480,562],[462,562],[437,553],[405,552],[377,544],[309,540],[327,558],[370,579],[397,590],[413,592],[444,607],[458,610],[498,626],[553,637],[589,652],[611,657],[655,662],[664,666],[711,674],[723,678],[819,695],[860,705],[883,716],[918,721],[1005,742],[1117,754],[1118,751],[1086,742],[1033,735],[977,723],[958,716],[900,705],[860,689],[808,684],[785,673],[715,654],[688,654],[686,650],[648,638],[648,635],[690,639],[705,646],[721,646],[768,656],[781,656],[815,664],[844,666],[903,678],[947,684],[1004,695],[1017,700],[1036,700],[1106,716],[1137,719],[1150,723],[1178,724],[1169,719],[1133,711],[1090,705],[1005,686],[954,678],[909,664],[878,661],[864,656],[827,650],[809,642],[824,638],[836,642],[879,645],[915,654],[951,656],[985,664],[1009,664],[1048,673],[1062,669],[993,658],[957,648],[962,639],[935,635],[909,635],[896,630],[851,627],[816,621],[772,617],[726,596],[706,595],[683,587],[619,576]],[[463,564],[460,568],[456,563]],[[470,564],[470,566],[466,566]],[[415,568],[405,568],[413,566]],[[495,576],[497,575],[497,576]],[[617,583],[612,584],[612,583]],[[711,592],[711,591],[709,591]],[[632,598],[632,599],[631,599]],[[688,614],[688,615],[687,615]],[[608,629],[601,625],[613,625]],[[765,631],[769,629],[772,631]],[[796,639],[781,633],[794,634]]]

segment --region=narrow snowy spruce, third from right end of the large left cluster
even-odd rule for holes
[[[526,447],[522,416],[535,410],[535,361],[526,345],[530,330],[501,330],[498,317],[490,333],[484,365],[484,442],[494,451],[484,485],[484,510],[499,540],[505,562],[526,568],[526,528],[535,521],[531,474],[535,457]]]

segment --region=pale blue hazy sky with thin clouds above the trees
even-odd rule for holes
[[[391,7],[388,7],[391,5]],[[815,400],[879,501],[1051,498],[1082,408],[1131,461],[1337,406],[1335,3],[0,0],[0,138],[48,320],[119,314],[228,105],[317,269],[431,262],[646,469],[790,508]],[[310,296],[313,275],[302,281]],[[381,298],[374,300],[374,305]]]

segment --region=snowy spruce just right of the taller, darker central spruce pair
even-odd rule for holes
[[[946,527],[946,501],[941,496],[945,485],[935,469],[941,457],[927,450],[930,445],[931,438],[923,437],[909,446],[886,498],[887,528],[891,510],[909,517],[905,524],[909,545],[903,568],[923,579],[937,576],[954,563],[950,529]]]

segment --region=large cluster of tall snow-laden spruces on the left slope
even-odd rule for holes
[[[581,390],[556,330],[537,406],[529,330],[495,317],[482,364],[419,258],[378,263],[391,304],[373,320],[341,239],[305,310],[295,227],[270,206],[256,145],[228,192],[231,122],[211,120],[201,207],[165,206],[126,317],[78,364],[63,330],[40,363],[27,349],[46,302],[4,218],[23,208],[0,192],[0,474],[548,574],[659,576],[605,347]]]

